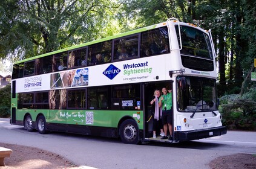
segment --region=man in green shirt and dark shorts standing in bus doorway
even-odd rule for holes
[[[169,140],[172,140],[172,94],[171,91],[167,92],[167,89],[164,87],[162,88],[163,95],[159,99],[159,107],[162,107],[163,114],[163,130],[165,135],[161,139],[167,139],[167,132],[169,129],[170,136]]]

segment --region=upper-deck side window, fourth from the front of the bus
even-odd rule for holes
[[[87,47],[68,51],[68,68],[76,68],[79,66],[87,66]]]

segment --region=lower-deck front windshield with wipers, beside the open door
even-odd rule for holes
[[[183,83],[181,83],[183,80]],[[177,106],[183,112],[217,110],[215,80],[202,77],[177,77]]]

